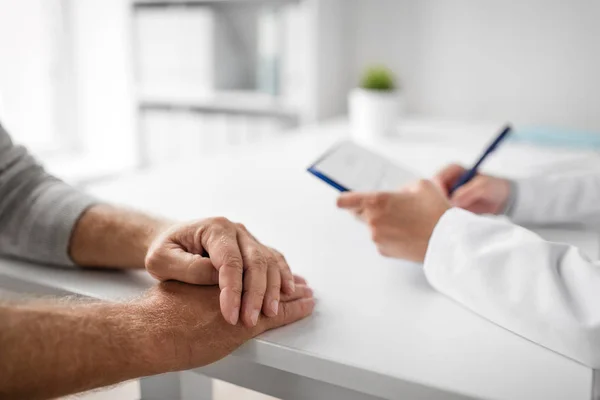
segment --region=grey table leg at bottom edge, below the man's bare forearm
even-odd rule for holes
[[[173,372],[140,379],[141,400],[212,400],[212,379]]]

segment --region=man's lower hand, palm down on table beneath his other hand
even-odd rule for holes
[[[219,312],[219,290],[179,282],[165,282],[151,289],[132,306],[140,324],[148,326],[151,339],[159,343],[146,346],[148,360],[159,368],[153,373],[179,371],[211,364],[227,356],[247,340],[261,333],[301,320],[315,307],[313,292],[306,281],[295,277],[298,289],[282,295],[276,317],[258,319],[253,327],[231,326]],[[148,354],[151,353],[151,354]]]

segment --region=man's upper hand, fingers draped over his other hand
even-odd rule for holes
[[[225,218],[167,228],[150,245],[145,264],[160,281],[218,284],[221,312],[232,325],[241,319],[256,326],[261,311],[276,317],[280,294],[295,291],[285,258]]]

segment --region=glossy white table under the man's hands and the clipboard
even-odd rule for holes
[[[459,127],[406,123],[397,138],[374,146],[429,175],[450,161],[472,162],[494,133],[493,127],[472,128],[478,135]],[[243,221],[315,289],[314,316],[194,372],[286,399],[589,400],[590,369],[438,294],[419,265],[379,256],[366,228],[335,208],[337,193],[304,169],[346,131],[343,122],[307,128],[268,145],[91,188],[112,202],[172,218]],[[595,153],[513,145],[488,166],[519,175],[557,163],[600,170]],[[12,290],[116,300],[152,284],[144,272],[0,261],[0,286]],[[208,383],[189,374],[145,380],[142,390],[144,398],[149,392],[185,397],[190,385],[196,396],[207,396]]]

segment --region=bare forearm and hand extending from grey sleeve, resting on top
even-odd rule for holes
[[[285,258],[242,224],[223,217],[173,223],[110,205],[89,208],[70,243],[75,264],[146,268],[159,281],[219,285],[225,320],[256,326],[295,290]]]

